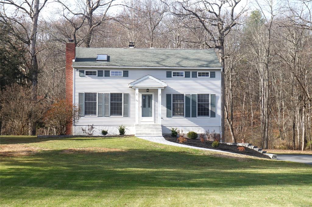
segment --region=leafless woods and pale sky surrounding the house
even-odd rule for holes
[[[14,111],[21,100],[47,109],[65,98],[68,39],[77,47],[124,48],[134,41],[137,48],[216,50],[224,67],[226,141],[311,149],[312,1],[0,4],[2,134],[52,133],[35,115],[40,110]],[[13,129],[23,119],[30,129]]]

